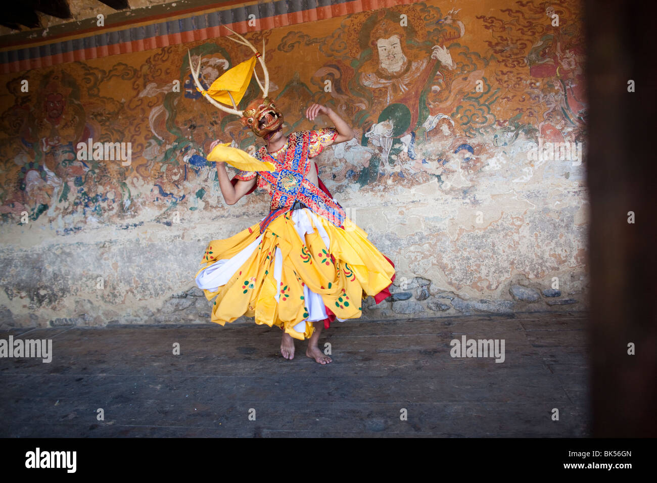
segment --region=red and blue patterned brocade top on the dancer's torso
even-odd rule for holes
[[[264,146],[254,154],[258,160],[269,161],[276,166],[275,172],[258,172],[260,175],[258,187],[269,185],[271,191],[270,211],[260,221],[260,233],[265,231],[273,219],[290,210],[296,200],[306,204],[315,214],[327,219],[336,227],[341,227],[344,223],[345,212],[342,206],[306,177],[311,166],[308,157],[311,142],[317,143],[317,139],[311,138],[317,135],[317,131],[297,131],[290,134],[283,162],[271,156]],[[336,132],[329,135],[331,141],[336,135]],[[320,151],[321,148],[315,154],[319,154]],[[238,177],[238,179],[251,178],[252,176]]]

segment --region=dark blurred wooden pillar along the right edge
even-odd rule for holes
[[[657,9],[584,7],[593,436],[657,436]]]

